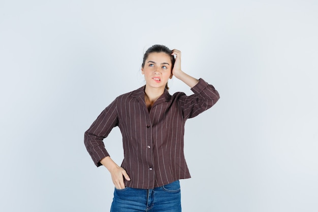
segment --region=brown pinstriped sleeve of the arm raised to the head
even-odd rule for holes
[[[191,90],[194,92],[193,95],[184,95],[180,98],[184,119],[199,115],[211,108],[220,98],[214,86],[208,84],[202,78]]]

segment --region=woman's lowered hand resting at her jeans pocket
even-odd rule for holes
[[[123,177],[128,181],[131,180],[126,170],[118,166],[109,156],[103,158],[100,162],[110,172],[115,188],[124,189],[125,185],[123,183]]]

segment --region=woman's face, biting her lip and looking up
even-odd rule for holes
[[[165,88],[169,78],[172,78],[171,67],[171,55],[165,52],[150,53],[141,69],[142,74],[145,75],[146,85]]]

